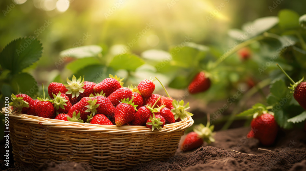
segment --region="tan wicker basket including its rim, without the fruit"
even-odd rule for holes
[[[192,124],[188,117],[152,131],[146,126],[106,126],[9,113],[15,163],[36,167],[51,160],[88,162],[94,170],[125,170],[138,163],[164,161],[174,155]]]

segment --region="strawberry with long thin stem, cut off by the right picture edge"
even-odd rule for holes
[[[289,80],[293,83],[290,84],[291,87],[289,89],[292,89],[293,97],[297,102],[300,104],[301,107],[303,107],[306,110],[306,82],[303,82],[304,77],[298,81],[294,82],[292,78],[289,77],[289,75],[284,71],[284,69],[276,64],[283,73],[289,78]]]

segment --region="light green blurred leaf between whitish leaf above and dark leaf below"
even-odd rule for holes
[[[89,65],[99,64],[100,61],[95,57],[89,57],[89,58],[81,58],[77,59],[73,62],[70,62],[66,65],[66,68],[71,70],[73,73],[76,73],[81,68],[87,67]]]

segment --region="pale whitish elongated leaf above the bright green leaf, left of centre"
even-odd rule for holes
[[[60,52],[60,56],[69,56],[75,58],[96,57],[102,53],[102,50],[102,47],[98,45],[80,46],[63,50],[62,52]]]

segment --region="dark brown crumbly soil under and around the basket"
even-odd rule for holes
[[[181,153],[178,149],[174,157],[166,162],[148,162],[131,169],[137,170],[306,170],[306,132],[302,130],[280,131],[277,143],[271,147],[261,146],[256,139],[247,139],[245,136],[249,128],[230,129],[218,131],[215,135],[216,142],[189,153]],[[182,140],[184,136],[182,137]],[[258,150],[264,148],[271,151]],[[231,150],[242,153],[239,154]],[[3,155],[2,155],[3,156]],[[12,155],[11,155],[12,156]],[[30,167],[6,168],[0,170],[36,170]],[[65,165],[56,165],[53,162],[45,162],[39,167],[40,171],[70,170],[89,171],[90,166],[85,163],[69,162]]]

